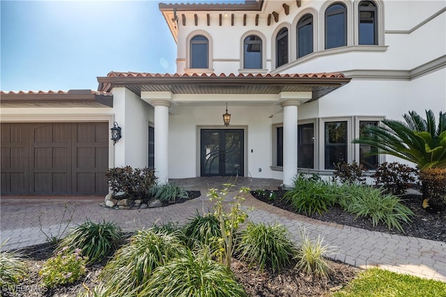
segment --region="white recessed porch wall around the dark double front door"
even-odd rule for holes
[[[170,178],[200,176],[199,128],[225,128],[222,118],[225,109],[225,105],[185,106],[180,114],[169,116]],[[247,176],[272,178],[270,115],[274,109],[274,106],[228,106],[231,124],[227,128],[247,130]]]

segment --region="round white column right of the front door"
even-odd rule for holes
[[[284,188],[293,186],[298,174],[298,100],[286,100],[281,104],[284,109]]]

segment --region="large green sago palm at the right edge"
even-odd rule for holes
[[[353,143],[378,148],[369,155],[383,153],[415,163],[420,169],[424,199],[445,208],[446,114],[440,112],[438,125],[431,110],[426,110],[426,119],[414,111],[404,114],[403,119],[406,123],[385,119],[382,126],[368,126]]]

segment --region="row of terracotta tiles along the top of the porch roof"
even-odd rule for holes
[[[116,72],[112,71],[107,74],[107,77],[311,77],[311,78],[345,78],[343,73],[294,73],[294,74],[275,74],[271,75],[270,73],[261,74],[261,73],[248,73],[243,74],[239,73],[235,75],[230,73],[226,75],[225,73],[220,73],[220,75],[216,75],[215,73],[134,73],[134,72]]]

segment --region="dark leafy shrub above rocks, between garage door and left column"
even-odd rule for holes
[[[126,192],[128,195],[148,199],[150,191],[157,177],[155,171],[144,168],[133,169],[130,166],[107,169],[105,176],[109,179],[109,186],[114,192]]]

